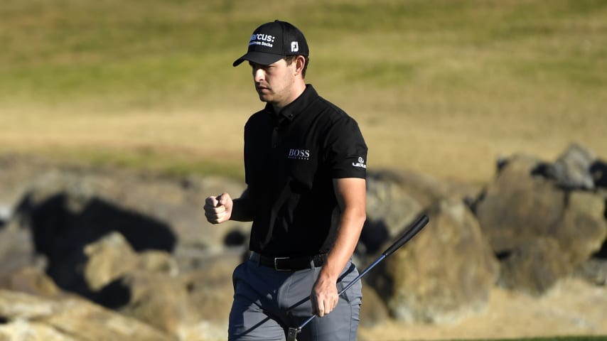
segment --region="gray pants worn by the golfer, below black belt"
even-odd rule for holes
[[[299,327],[312,315],[310,294],[321,268],[276,271],[245,261],[234,271],[234,302],[228,340],[286,340],[289,327]],[[338,291],[358,276],[349,261],[338,281]],[[358,330],[362,284],[343,293],[335,309],[314,318],[299,333],[300,341],[354,341]]]

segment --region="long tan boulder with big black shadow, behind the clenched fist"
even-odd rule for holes
[[[58,286],[90,296],[81,271],[84,249],[110,232],[122,234],[134,251],[173,254],[184,270],[200,264],[203,254],[234,244],[227,235],[245,231],[248,223],[211,225],[202,210],[205,196],[220,188],[240,194],[234,181],[211,177],[50,171],[33,180],[5,229],[29,231],[34,253],[48,260],[47,272]]]

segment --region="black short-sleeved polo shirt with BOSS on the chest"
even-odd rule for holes
[[[356,121],[311,85],[281,112],[245,125],[245,180],[254,207],[249,247],[265,256],[328,252],[340,210],[334,178],[365,178],[367,146]]]

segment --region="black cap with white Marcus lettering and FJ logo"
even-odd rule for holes
[[[272,21],[259,26],[249,40],[249,50],[235,60],[234,66],[245,60],[260,65],[270,65],[287,55],[308,57],[308,43],[298,28],[286,21]]]

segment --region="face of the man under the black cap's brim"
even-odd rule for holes
[[[255,90],[262,102],[269,102],[276,107],[284,107],[295,98],[295,68],[296,63],[286,64],[281,59],[270,65],[259,65],[249,62],[252,67]]]

